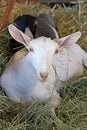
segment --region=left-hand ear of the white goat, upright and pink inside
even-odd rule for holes
[[[26,36],[23,32],[21,32],[18,28],[14,25],[10,24],[8,26],[8,30],[10,35],[18,42],[22,43],[26,48],[28,48],[29,42],[31,38]]]

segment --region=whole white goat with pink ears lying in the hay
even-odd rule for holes
[[[25,48],[10,59],[0,78],[2,88],[17,102],[50,98],[48,105],[54,110],[60,103],[61,81],[81,75],[83,65],[87,67],[87,54],[75,44],[81,33],[31,40],[14,25],[9,25],[9,32]]]

